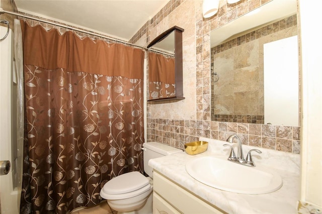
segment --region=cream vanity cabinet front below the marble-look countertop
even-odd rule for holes
[[[153,213],[225,213],[153,171]]]

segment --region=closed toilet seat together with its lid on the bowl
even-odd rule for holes
[[[135,197],[151,188],[148,178],[140,172],[128,172],[108,181],[100,195],[105,199],[117,200]]]

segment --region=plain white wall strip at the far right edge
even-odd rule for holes
[[[302,60],[301,198],[322,206],[321,1],[299,0]]]

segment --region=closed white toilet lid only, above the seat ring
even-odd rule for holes
[[[140,172],[128,172],[108,181],[103,189],[106,194],[132,192],[149,184],[149,180]]]

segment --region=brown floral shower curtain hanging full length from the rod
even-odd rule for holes
[[[111,178],[143,172],[144,52],[21,21],[26,144],[21,213],[101,201]]]

